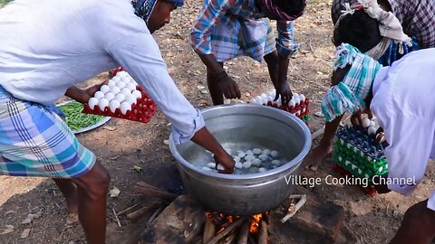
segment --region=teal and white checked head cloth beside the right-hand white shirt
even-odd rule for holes
[[[328,122],[346,111],[354,113],[365,108],[364,99],[370,93],[374,77],[382,67],[369,55],[343,43],[335,51],[333,70],[343,69],[348,64],[351,68],[343,81],[329,89],[322,99],[322,113]]]

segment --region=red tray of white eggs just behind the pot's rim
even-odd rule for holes
[[[254,99],[250,99],[249,103],[252,104],[263,104],[266,106],[280,108],[287,112],[294,114],[296,117],[302,119],[305,123],[310,120],[308,114],[310,113],[310,100],[306,99],[304,94],[293,93],[293,98],[290,100],[288,105],[284,105],[281,102],[281,99],[277,99],[274,101],[276,95],[276,90],[270,90],[266,93],[263,93],[259,96],[256,96]]]

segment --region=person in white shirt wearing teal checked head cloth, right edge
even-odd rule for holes
[[[410,195],[435,158],[434,57],[435,49],[415,51],[382,67],[352,45],[337,48],[333,87],[322,100],[322,111],[327,121],[366,108],[376,115],[389,143],[388,178],[374,182],[380,193]],[[434,238],[435,191],[406,211],[391,243],[430,243]]]

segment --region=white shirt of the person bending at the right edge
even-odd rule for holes
[[[370,108],[390,144],[385,148],[389,178],[415,177],[420,183],[429,159],[435,158],[435,49],[411,52],[382,68],[372,90]],[[405,195],[416,187],[388,185],[391,191]],[[435,191],[428,208],[435,211]]]

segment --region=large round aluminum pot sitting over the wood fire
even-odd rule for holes
[[[257,174],[218,174],[189,163],[204,149],[192,142],[175,145],[170,151],[188,192],[208,211],[250,215],[275,209],[293,192],[287,183],[301,171],[311,147],[308,127],[294,115],[277,108],[239,104],[202,110],[208,130],[221,144],[276,148],[291,160],[273,170]],[[287,181],[286,181],[287,180]]]

